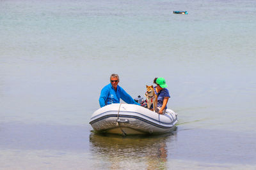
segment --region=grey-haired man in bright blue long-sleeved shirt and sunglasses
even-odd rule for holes
[[[111,74],[110,83],[106,85],[100,92],[100,108],[112,103],[120,103],[120,98],[129,104],[138,104],[125,90],[118,85],[118,74]]]

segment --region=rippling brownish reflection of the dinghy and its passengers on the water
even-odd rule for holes
[[[176,133],[158,136],[118,136],[113,134],[90,134],[90,148],[95,157],[107,162],[110,169],[168,169],[168,145],[172,145]],[[129,167],[131,166],[131,167]],[[147,168],[146,168],[147,167]]]

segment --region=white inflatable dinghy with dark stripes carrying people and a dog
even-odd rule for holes
[[[175,130],[177,114],[166,110],[163,115],[136,104],[109,104],[96,110],[90,124],[97,132],[111,134],[163,134]]]

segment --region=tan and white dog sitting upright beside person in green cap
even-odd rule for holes
[[[147,98],[147,105],[148,109],[150,109],[151,104],[153,103],[153,111],[156,112],[156,107],[157,107],[157,96],[154,91],[153,85],[146,85],[147,87],[147,92],[145,92],[145,97]]]

